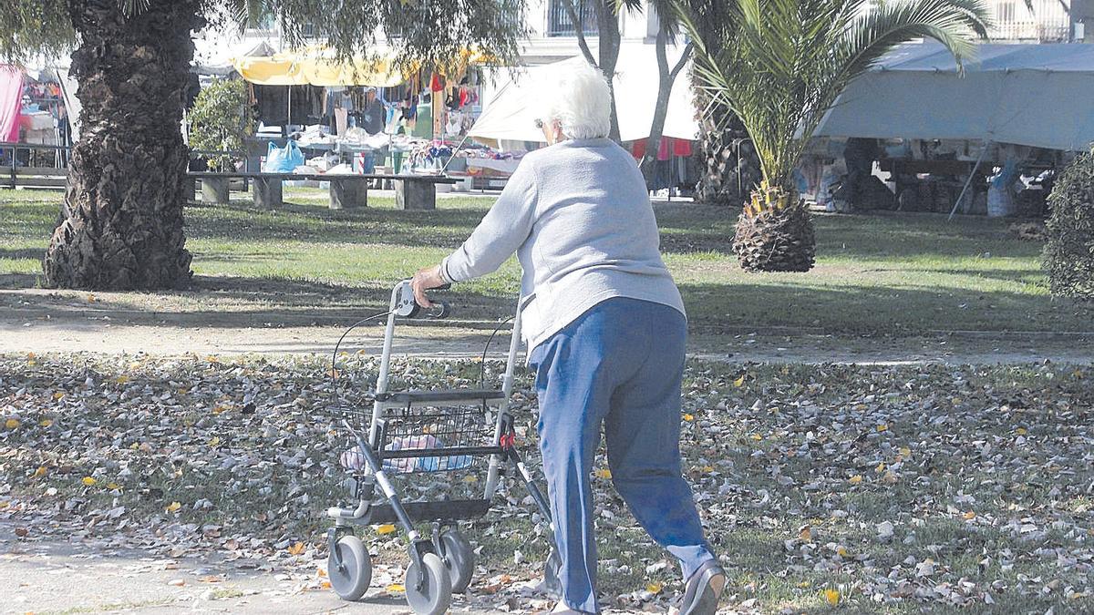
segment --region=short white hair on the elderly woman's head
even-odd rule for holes
[[[544,84],[548,85],[548,84]],[[607,137],[612,129],[612,91],[604,73],[580,62],[557,83],[540,89],[544,123],[558,120],[570,139]]]

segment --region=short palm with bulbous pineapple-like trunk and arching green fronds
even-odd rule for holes
[[[961,63],[987,36],[979,0],[729,0],[728,19],[701,26],[677,4],[696,43],[708,116],[730,109],[759,156],[763,179],[737,222],[746,270],[807,271],[816,242],[792,173],[824,114],[856,77],[916,38],[942,43]],[[926,93],[924,93],[926,94]]]

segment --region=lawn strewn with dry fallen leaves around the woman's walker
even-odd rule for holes
[[[376,360],[347,356],[366,407]],[[481,363],[399,362],[397,387],[466,386]],[[321,589],[346,442],[330,431],[326,360],[0,355],[0,522],[28,543],[228,557]],[[492,380],[501,365],[487,364]],[[743,613],[1091,613],[1090,367],[734,365],[690,361],[684,472]],[[519,445],[538,475],[536,405],[521,374]],[[601,594],[666,611],[682,585],[595,461]],[[409,498],[478,488],[408,481]],[[407,487],[407,486],[410,487]],[[547,526],[520,485],[465,527],[479,550],[458,604],[531,612]],[[374,560],[399,533],[362,529]],[[516,552],[520,555],[516,555]],[[385,572],[386,575],[386,572]],[[376,580],[372,594],[385,593]],[[539,608],[543,606],[540,605]],[[1055,611],[1052,611],[1055,610]]]

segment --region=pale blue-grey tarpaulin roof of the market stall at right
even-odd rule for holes
[[[938,43],[909,44],[853,81],[817,137],[1094,142],[1094,45],[978,45],[959,77]]]

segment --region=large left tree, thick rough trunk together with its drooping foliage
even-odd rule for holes
[[[334,7],[336,4],[337,7]],[[179,123],[193,31],[272,14],[290,46],[313,33],[340,59],[384,33],[398,63],[433,67],[477,46],[517,55],[524,0],[8,0],[0,58],[72,53],[83,104],[65,220],[43,263],[60,288],[156,290],[190,283],[183,205],[189,152]],[[74,51],[73,51],[74,49]]]

